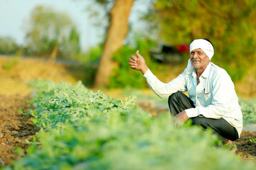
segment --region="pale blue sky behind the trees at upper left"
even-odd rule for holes
[[[80,33],[82,50],[102,42],[105,28],[97,28],[85,10],[92,0],[0,0],[0,37],[11,37],[23,44],[28,30],[31,11],[36,6],[50,6],[55,11],[68,13]],[[139,13],[146,11],[146,0],[135,1],[129,16],[131,23],[137,23]],[[140,29],[134,24],[134,29]]]

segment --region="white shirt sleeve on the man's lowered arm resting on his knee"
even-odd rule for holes
[[[210,105],[196,106],[186,109],[188,118],[202,115],[206,118],[222,118],[223,115],[232,111],[233,103],[236,101],[235,86],[227,72],[223,71],[213,78],[213,99]]]

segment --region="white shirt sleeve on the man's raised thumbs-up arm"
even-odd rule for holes
[[[150,89],[160,98],[169,97],[176,91],[187,91],[186,89],[186,69],[176,79],[165,84],[154,76],[154,74],[148,69],[143,75],[149,84]]]

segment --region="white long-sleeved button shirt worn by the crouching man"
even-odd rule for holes
[[[199,77],[199,84],[196,81],[196,69],[191,67],[187,67],[182,74],[167,84],[159,81],[149,69],[144,77],[149,87],[160,98],[169,97],[176,91],[188,91],[188,97],[196,106],[185,110],[188,118],[198,115],[203,115],[205,118],[224,118],[238,130],[240,136],[242,111],[233,81],[224,69],[210,62]]]

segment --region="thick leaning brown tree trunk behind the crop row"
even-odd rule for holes
[[[129,13],[134,0],[116,0],[110,10],[110,28],[102,50],[100,65],[97,69],[94,87],[110,84],[110,74],[113,68],[112,55],[122,47],[123,40],[129,31]]]

